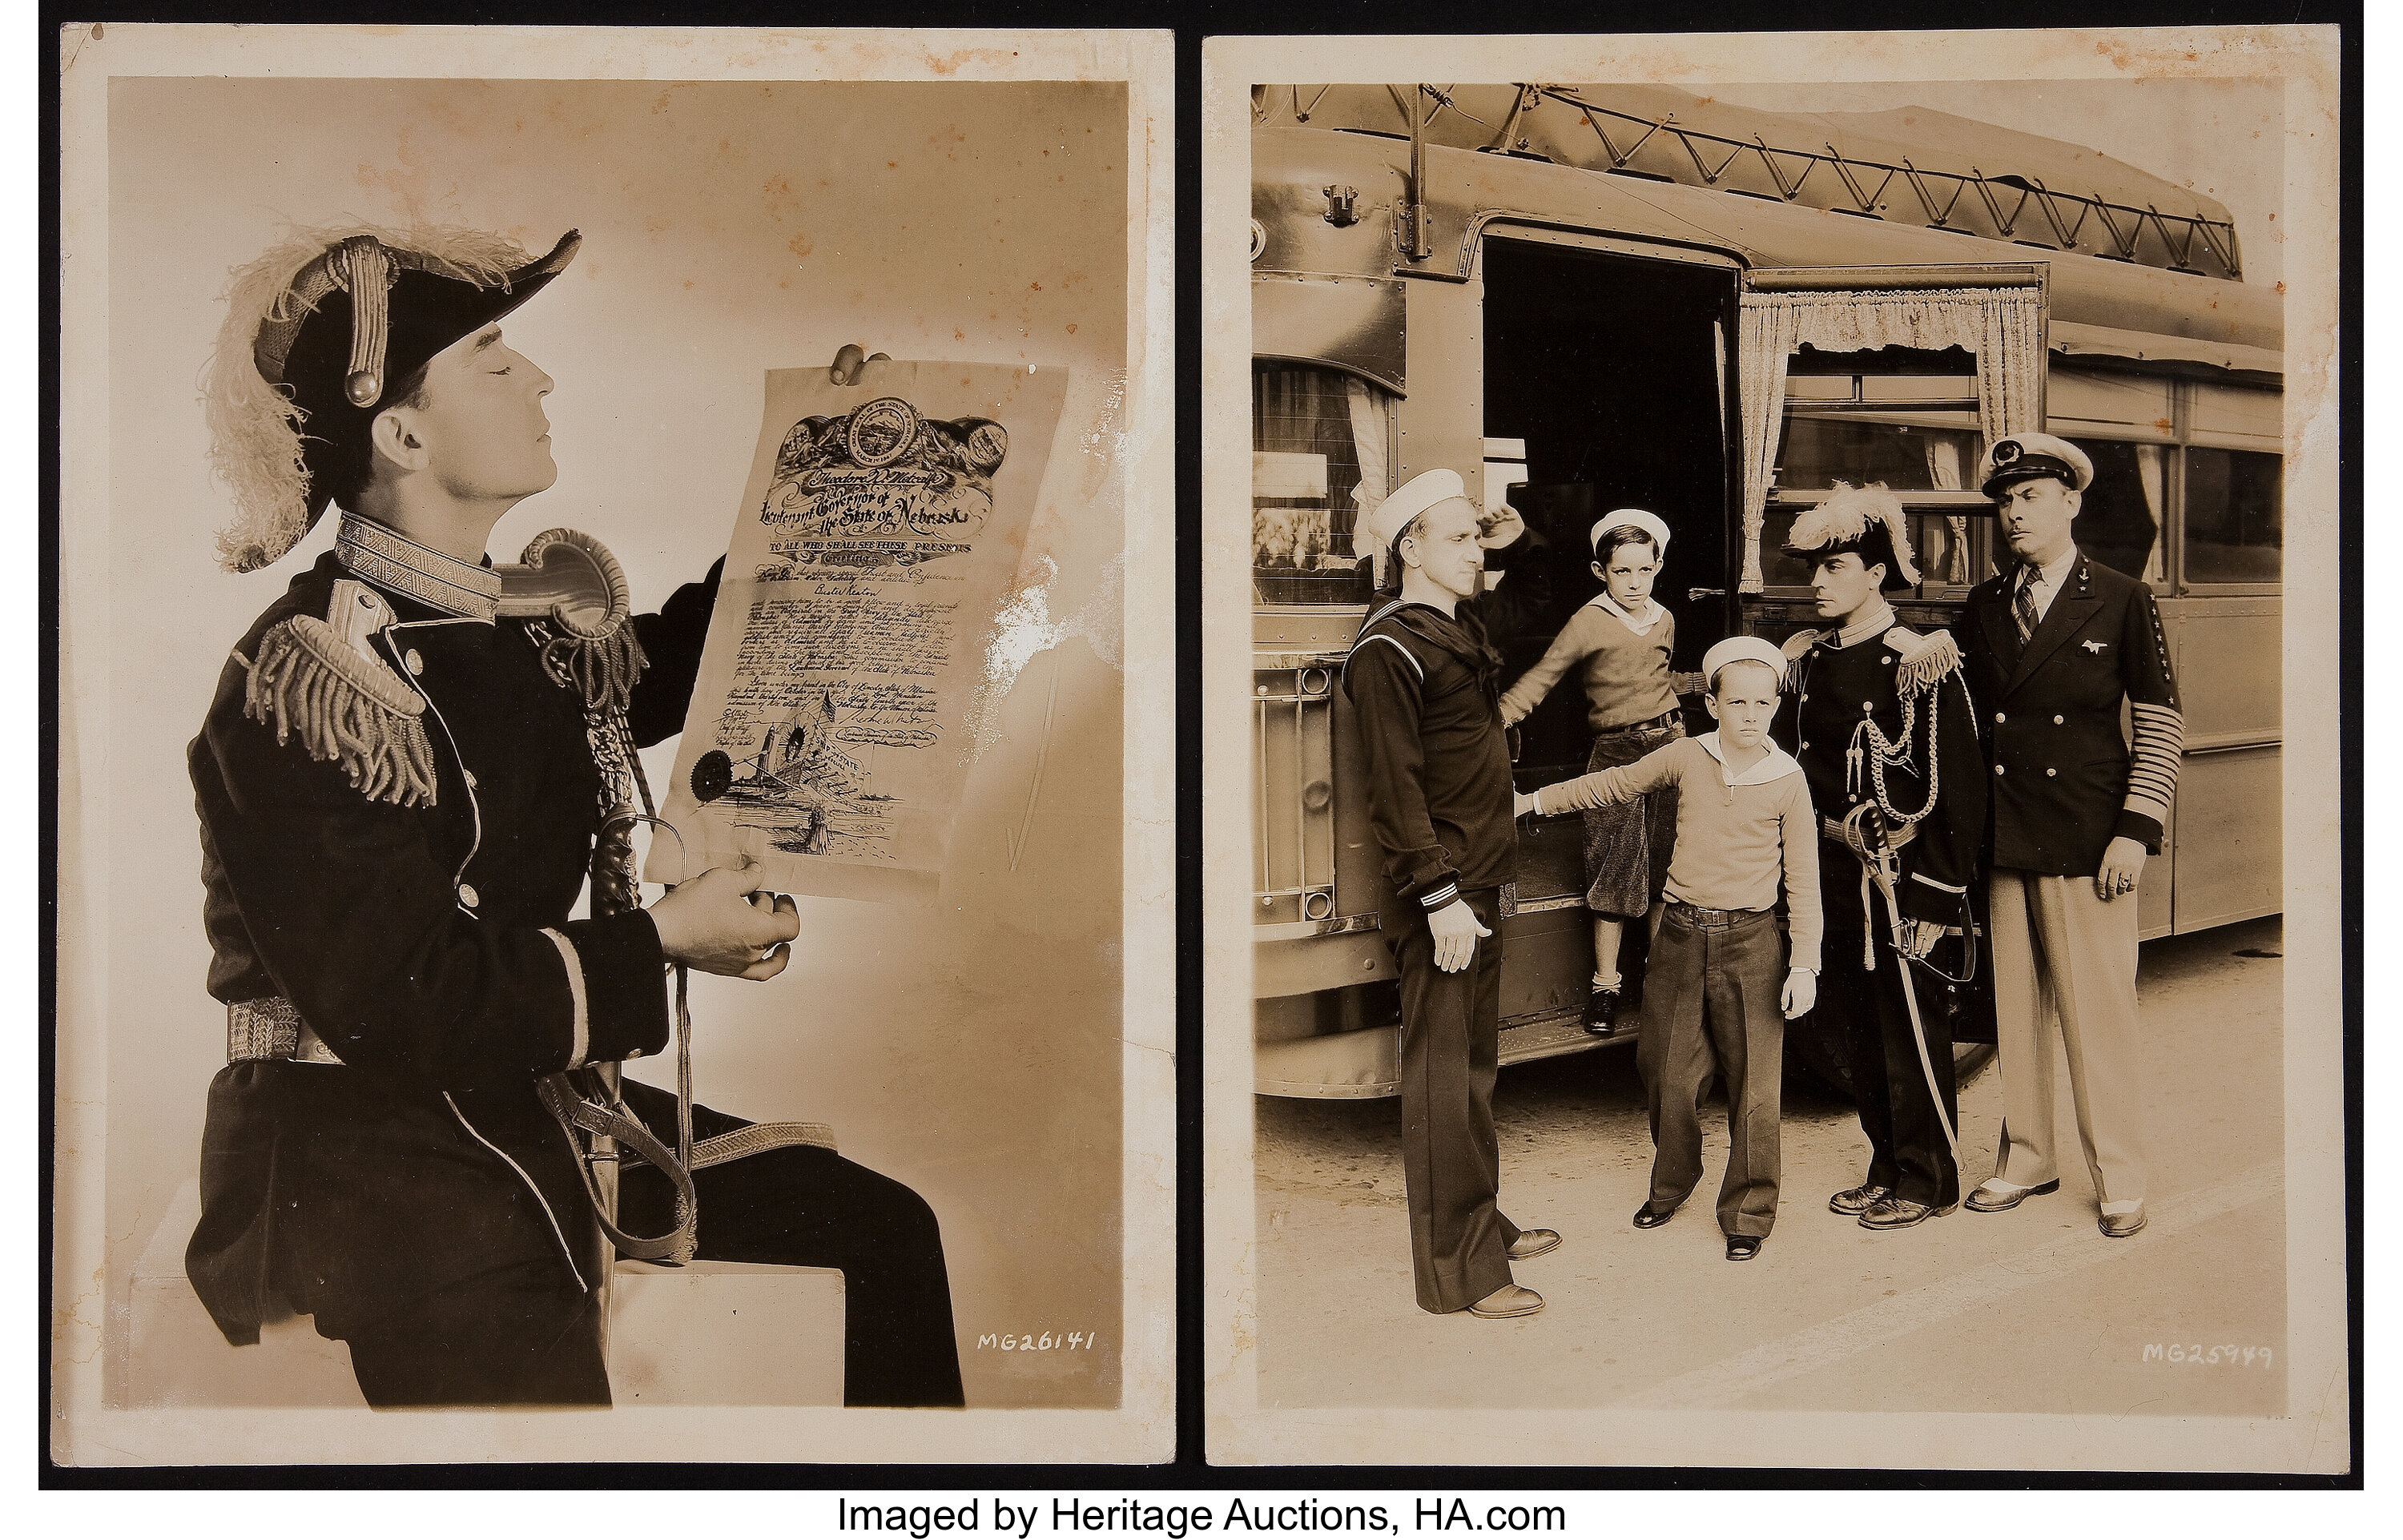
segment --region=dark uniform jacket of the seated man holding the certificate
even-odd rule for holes
[[[601,774],[582,699],[543,673],[521,622],[375,589],[396,620],[372,644],[428,702],[430,805],[370,798],[245,714],[262,637],[327,617],[348,577],[327,555],[260,615],[190,750],[209,992],[284,997],[341,1057],[228,1064],[209,1088],[187,1264],[235,1343],[257,1341],[279,1297],[346,1336],[529,1257],[596,1285],[591,1204],[533,1084],[668,1040],[651,918],[567,918]],[[637,620],[642,742],[682,728],[716,577]]]

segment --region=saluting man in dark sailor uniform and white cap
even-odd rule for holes
[[[1425,471],[1363,517],[1379,601],[1343,661],[1370,822],[1384,848],[1384,944],[1401,973],[1401,1170],[1418,1307],[1526,1317],[1543,1295],[1511,1261],[1560,1244],[1502,1216],[1495,1139],[1502,887],[1519,875],[1502,653],[1543,610],[1540,538],[1485,517],[1459,471]],[[1509,584],[1485,591],[1485,560]]]

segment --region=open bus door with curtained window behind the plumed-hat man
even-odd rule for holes
[[[1894,596],[1903,625],[1951,627],[1992,572],[1992,505],[1968,485],[1985,444],[2045,428],[2047,267],[1843,267],[1745,274],[1737,341],[1742,627],[1783,641],[1817,622],[1807,574],[1778,550],[1833,483],[1886,483],[1910,517],[1922,584]],[[1985,894],[1970,884],[1975,966],[1949,985],[1961,1069],[1990,1057],[1994,997]],[[1958,971],[1958,968],[1956,968]],[[1848,1079],[1841,1023],[1788,1028],[1819,1079]]]

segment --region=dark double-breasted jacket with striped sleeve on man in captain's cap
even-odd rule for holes
[[[2153,591],[2081,550],[2021,649],[2016,577],[2014,567],[1970,589],[1961,627],[1994,766],[1992,862],[2093,877],[2122,834],[2158,855],[2184,723]]]

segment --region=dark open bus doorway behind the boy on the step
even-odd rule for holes
[[[1516,507],[1548,545],[1550,603],[1495,637],[1504,680],[1600,591],[1588,531],[1620,507],[1672,529],[1653,584],[1675,615],[1672,668],[1692,673],[1728,632],[1737,276],[1723,252],[1497,219],[1466,281],[1408,283],[1411,356],[1425,363],[1401,404],[1401,478],[1480,466],[1473,495]],[[1572,673],[1519,728],[1519,786],[1584,774],[1591,742]],[[1579,1023],[1593,975],[1584,819],[1521,824],[1504,927],[1504,1062],[1596,1045]]]

